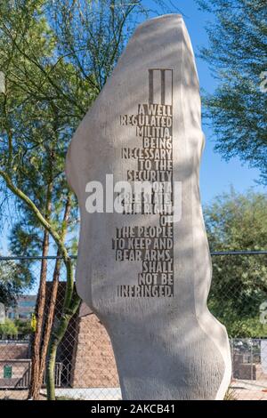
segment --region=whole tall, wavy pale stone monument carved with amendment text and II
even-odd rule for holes
[[[182,17],[140,25],[69,146],[77,292],[106,327],[124,399],[222,399],[231,378],[198,188],[204,136]]]

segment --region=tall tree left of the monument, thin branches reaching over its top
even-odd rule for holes
[[[76,199],[64,176],[69,140],[101,92],[136,23],[149,13],[141,0],[1,2],[0,71],[5,76],[0,95],[2,203],[8,202],[18,214],[13,222],[12,250],[28,254],[39,249],[44,256],[30,398],[39,396],[45,362],[48,399],[55,398],[56,351],[79,305],[68,244],[77,219]],[[66,271],[65,299],[55,326],[61,261],[54,267],[52,297],[44,318],[45,256],[51,245],[56,245]]]

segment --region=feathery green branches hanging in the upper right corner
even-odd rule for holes
[[[209,46],[201,50],[218,85],[206,94],[206,116],[214,127],[215,149],[238,156],[267,181],[267,92],[260,88],[266,71],[266,1],[197,0],[213,13],[206,28]]]

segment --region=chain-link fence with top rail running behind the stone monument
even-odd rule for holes
[[[212,253],[213,282],[208,306],[227,328],[232,381],[228,399],[267,400],[267,252]],[[1,257],[1,277],[25,275],[31,285],[13,306],[2,305],[0,321],[0,398],[27,399],[31,375],[34,312],[42,257]],[[46,309],[56,258],[47,258]],[[264,276],[265,272],[265,276]],[[65,271],[53,322],[61,316]],[[1,301],[0,301],[1,302]],[[4,312],[3,312],[4,309]],[[112,400],[121,397],[109,336],[100,320],[81,303],[60,344],[55,365],[56,397]],[[40,399],[45,399],[45,375]]]

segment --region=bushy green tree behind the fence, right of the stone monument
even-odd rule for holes
[[[211,251],[263,250],[267,236],[267,197],[233,189],[205,209]],[[260,305],[267,299],[266,255],[213,257],[209,308],[231,336],[266,337]]]

